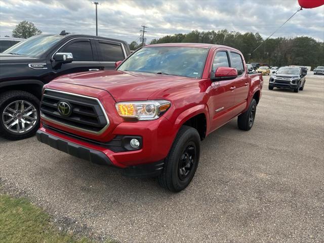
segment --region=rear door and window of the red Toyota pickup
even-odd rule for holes
[[[237,77],[235,82],[235,109],[234,115],[240,113],[247,104],[250,82],[248,72],[245,70],[245,65],[241,54],[231,51],[230,52],[231,67],[236,68]]]

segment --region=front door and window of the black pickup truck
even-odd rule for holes
[[[53,67],[53,78],[68,73],[100,70],[96,49],[90,38],[72,39],[55,53],[58,52],[72,53],[73,62]]]

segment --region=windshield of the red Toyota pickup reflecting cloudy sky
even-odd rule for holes
[[[118,70],[200,78],[208,51],[206,48],[146,47],[134,53]]]

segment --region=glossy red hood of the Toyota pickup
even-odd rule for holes
[[[197,79],[175,75],[130,72],[97,71],[67,74],[53,82],[74,84],[106,90],[115,101],[132,101],[161,98],[164,92],[176,86],[197,82]],[[157,96],[154,97],[154,94]]]

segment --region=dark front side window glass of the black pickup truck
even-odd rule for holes
[[[89,40],[73,42],[67,44],[59,52],[70,52],[73,55],[73,61],[76,62],[92,62],[93,55]]]

